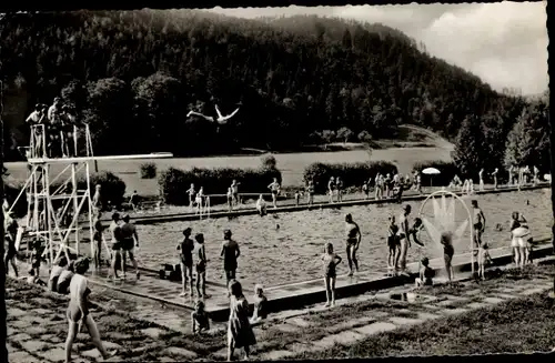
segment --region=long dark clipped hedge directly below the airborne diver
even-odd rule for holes
[[[281,183],[281,172],[275,168],[260,169],[199,169],[180,170],[170,168],[162,172],[158,180],[160,195],[164,203],[173,205],[189,204],[186,190],[193,183],[199,190],[204,188],[204,194],[225,194],[231,182],[235,179],[241,183],[240,192],[268,193],[268,185],[273,178]]]

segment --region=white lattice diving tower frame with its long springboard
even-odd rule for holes
[[[84,157],[52,159],[47,157],[44,143],[47,134],[43,125],[32,127],[27,160],[29,177],[23,189],[10,206],[11,211],[26,193],[28,201],[26,232],[28,235],[46,242],[43,256],[47,256],[50,265],[61,253],[64,253],[69,259],[68,250],[74,252],[75,255],[80,255],[80,242],[82,240],[80,224],[83,223],[88,225],[89,230],[83,232],[89,235],[91,256],[95,255],[97,246],[92,243],[94,212],[91,186],[93,185],[91,185],[90,181],[89,162],[99,160],[168,159],[173,157],[171,153],[94,157],[88,125],[84,127]],[[74,145],[77,150],[77,142]],[[53,171],[52,169],[59,170]],[[84,181],[84,185],[79,185],[79,181]],[[79,186],[82,189],[79,189]],[[82,214],[85,215],[84,221],[79,219]],[[27,243],[27,246],[29,249],[29,243]]]

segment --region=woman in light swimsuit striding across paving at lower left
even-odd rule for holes
[[[69,363],[71,361],[71,347],[73,346],[73,341],[75,340],[78,333],[78,325],[82,323],[89,330],[89,334],[91,335],[92,343],[102,354],[102,357],[105,360],[112,355],[115,355],[115,352],[108,353],[104,346],[102,345],[102,341],[100,340],[99,330],[94,320],[92,320],[91,314],[89,313],[89,304],[88,296],[91,293],[89,290],[87,278],[83,275],[89,270],[89,260],[88,259],[79,259],[75,261],[75,275],[71,279],[70,283],[70,303],[68,306],[68,340],[65,341],[65,362]]]

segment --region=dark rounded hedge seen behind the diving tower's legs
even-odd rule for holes
[[[87,180],[79,175],[77,180],[78,189],[84,190],[87,189]],[[90,180],[90,192],[91,198],[94,195],[95,185],[101,185],[101,201],[103,205],[108,205],[110,202],[111,205],[120,206],[123,202],[123,195],[125,194],[125,183],[117,175],[109,171],[102,171],[99,173],[93,173]],[[54,184],[51,186],[51,192],[54,192],[61,184]],[[19,192],[23,189],[24,183],[6,183],[4,184],[4,193],[8,199],[8,203],[10,205],[16,201]],[[61,200],[53,200],[52,204],[54,208],[59,208],[63,203]],[[83,205],[88,208],[88,205]],[[13,215],[17,218],[23,218],[27,214],[27,198],[23,194],[18,203],[12,209]]]

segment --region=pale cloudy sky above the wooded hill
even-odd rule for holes
[[[422,41],[428,53],[502,91],[537,94],[548,88],[546,1],[466,4],[215,8],[239,18],[319,14],[396,28]]]

